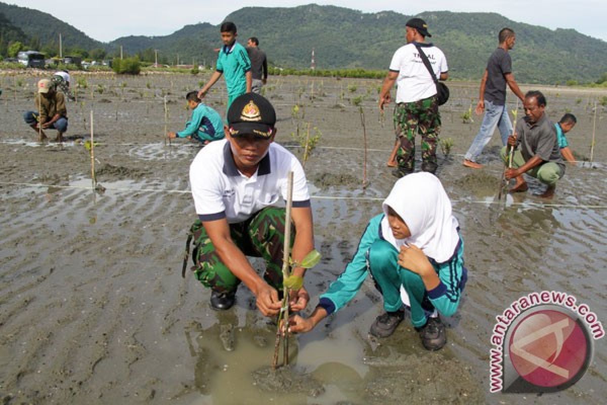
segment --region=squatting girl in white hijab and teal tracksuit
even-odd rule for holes
[[[403,306],[410,306],[424,347],[438,350],[446,344],[445,327],[435,309],[453,315],[467,280],[464,242],[449,197],[434,175],[419,172],[398,180],[382,208],[384,213],[371,218],[358,251],[320,296],[310,317],[290,319],[291,332],[308,332],[344,307],[371,271],[385,309],[371,325],[371,335],[392,335],[404,318]]]

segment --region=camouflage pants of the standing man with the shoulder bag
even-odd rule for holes
[[[394,112],[396,140],[400,148],[396,153],[398,174],[410,174],[415,168],[415,135],[421,134],[421,169],[435,173],[438,163],[436,146],[441,132],[441,115],[438,112],[436,96],[399,103]]]

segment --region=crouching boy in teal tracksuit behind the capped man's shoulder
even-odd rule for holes
[[[186,123],[186,128],[180,132],[169,132],[169,138],[188,138],[197,140],[204,145],[211,141],[223,139],[223,121],[217,111],[200,101],[197,92],[186,94],[188,107],[192,110],[192,117]]]

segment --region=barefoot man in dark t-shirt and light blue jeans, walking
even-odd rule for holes
[[[508,53],[514,48],[517,37],[513,30],[503,28],[498,34],[498,40],[500,45],[487,61],[487,68],[481,79],[480,97],[476,104],[476,114],[480,115],[483,111],[485,112],[483,123],[464,155],[463,165],[471,169],[483,168],[483,165],[476,162],[476,159],[489,143],[496,127],[500,130],[502,145],[506,145],[509,135],[512,134],[512,123],[510,123],[506,108],[506,84],[520,98],[521,102],[524,102],[523,92],[518,88],[517,81],[514,80],[512,74],[512,60]]]

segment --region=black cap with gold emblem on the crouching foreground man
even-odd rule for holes
[[[232,101],[228,109],[228,128],[232,137],[255,135],[267,139],[274,133],[276,111],[265,97],[245,93]]]

